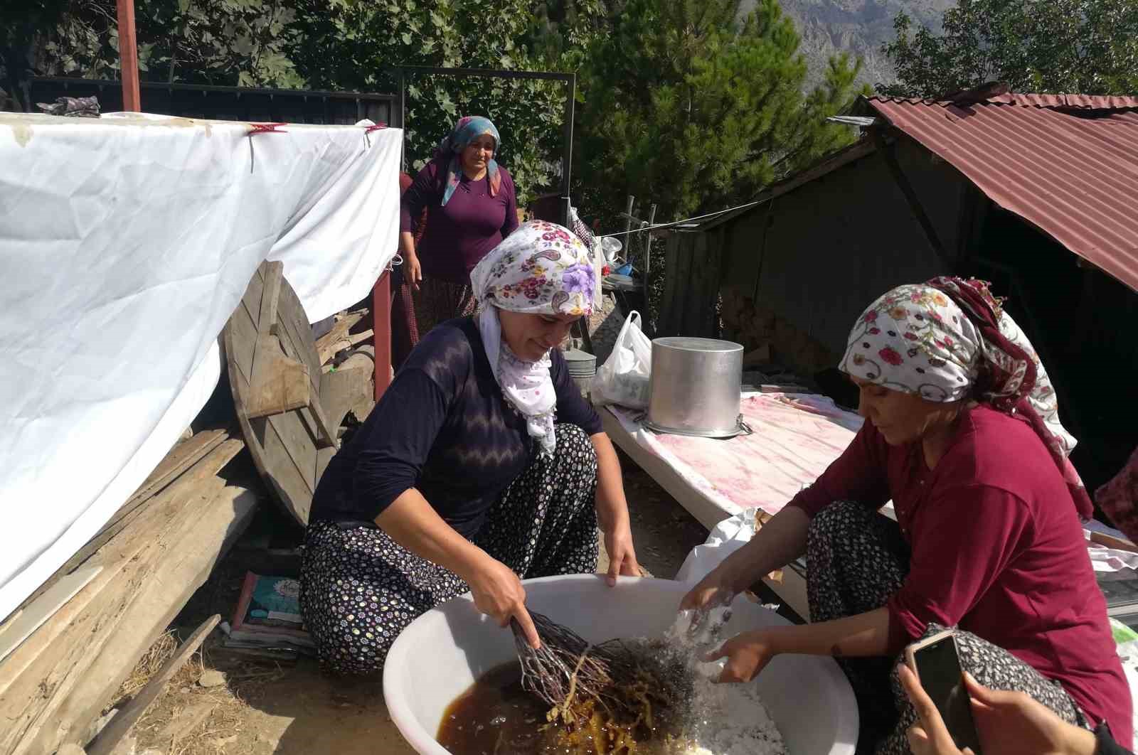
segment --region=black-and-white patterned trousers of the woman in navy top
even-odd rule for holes
[[[522,579],[596,571],[596,453],[576,425],[559,424],[556,437],[554,455],[534,458],[472,538]],[[407,624],[469,590],[374,525],[308,524],[300,613],[321,665],[333,673],[381,672]]]

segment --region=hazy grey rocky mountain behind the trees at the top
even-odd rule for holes
[[[810,66],[807,83],[822,80],[826,61],[839,52],[861,58],[860,82],[893,83],[893,66],[881,52],[881,45],[893,39],[893,18],[901,10],[913,19],[940,32],[945,10],[956,0],[780,0],[783,13],[794,19],[802,38],[799,48]],[[741,14],[754,9],[753,0],[744,0]]]

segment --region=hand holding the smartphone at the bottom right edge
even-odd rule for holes
[[[914,755],[960,755],[917,675],[904,665],[898,673],[920,722],[908,731]],[[1063,721],[1042,703],[1023,692],[988,689],[971,674],[964,675],[964,685],[984,755],[1094,755],[1095,735]]]

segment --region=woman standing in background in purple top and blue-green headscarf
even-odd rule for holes
[[[475,312],[470,271],[518,227],[513,179],[494,156],[502,143],[489,118],[460,118],[403,194],[399,252],[418,293],[419,332]],[[419,248],[412,218],[427,208]]]

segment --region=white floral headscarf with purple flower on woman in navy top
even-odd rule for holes
[[[479,305],[478,331],[494,379],[526,417],[526,429],[544,454],[556,448],[552,362],[547,352],[537,362],[513,354],[502,340],[497,310],[587,317],[593,313],[594,281],[591,256],[580,239],[545,221],[518,226],[470,273]]]

